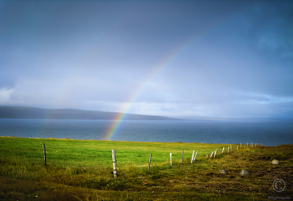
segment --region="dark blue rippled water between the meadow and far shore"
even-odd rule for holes
[[[104,138],[111,120],[0,119],[0,136],[25,138]],[[293,144],[293,121],[124,120],[116,141],[219,144]]]

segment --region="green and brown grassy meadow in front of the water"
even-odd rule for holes
[[[239,144],[237,150],[232,144],[229,155],[228,146],[0,137],[0,200],[293,199],[293,145],[240,148]],[[216,149],[216,157],[207,159],[205,155]],[[193,150],[197,159],[191,164]],[[272,165],[273,159],[280,164]],[[227,169],[228,174],[220,174],[219,169]],[[250,174],[240,176],[241,169]],[[284,191],[273,190],[275,179],[285,181]]]

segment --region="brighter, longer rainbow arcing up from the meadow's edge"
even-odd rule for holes
[[[221,22],[224,20],[221,20]],[[151,73],[144,79],[144,81],[141,82],[140,85],[137,86],[137,88],[134,89],[132,95],[128,98],[127,104],[124,104],[121,108],[121,112],[118,113],[115,118],[113,119],[111,125],[108,127],[108,130],[104,136],[105,140],[112,140],[113,137],[117,134],[117,130],[122,125],[122,120],[127,114],[127,111],[130,109],[131,104],[139,97],[139,95],[142,93],[144,88],[147,86],[147,84],[156,76],[158,75],[163,69],[169,66],[171,62],[173,62],[176,58],[178,58],[185,50],[190,48],[190,46],[194,45],[196,41],[199,41],[200,38],[202,38],[204,35],[209,33],[216,25],[219,25],[220,22],[215,23],[213,26],[205,29],[201,33],[197,34],[196,36],[193,36],[190,40],[186,41],[185,43],[181,44],[178,48],[176,48],[175,51],[171,52],[167,57],[165,57],[159,64],[154,67],[154,69],[151,71]]]

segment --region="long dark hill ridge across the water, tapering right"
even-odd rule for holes
[[[102,112],[80,109],[42,109],[34,107],[8,107],[0,106],[0,118],[18,119],[92,119],[112,120],[117,112]],[[140,114],[125,114],[124,120],[182,120],[163,116]]]

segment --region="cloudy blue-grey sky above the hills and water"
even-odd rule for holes
[[[0,106],[293,118],[293,1],[0,1]]]

